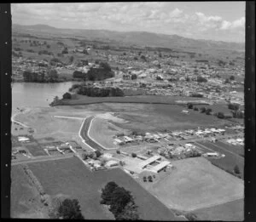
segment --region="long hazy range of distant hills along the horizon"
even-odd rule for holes
[[[90,40],[108,40],[119,43],[131,43],[148,47],[163,48],[197,48],[197,49],[228,49],[245,50],[244,43],[228,43],[222,41],[192,39],[177,35],[157,34],[147,31],[108,31],[108,30],[79,30],[79,29],[60,29],[47,25],[21,26],[13,24],[13,31],[28,31],[33,34],[54,34],[79,36]]]

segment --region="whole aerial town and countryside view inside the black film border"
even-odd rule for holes
[[[12,218],[244,219],[245,2],[11,8]]]

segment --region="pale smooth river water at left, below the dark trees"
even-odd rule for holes
[[[12,114],[22,107],[48,107],[55,96],[62,98],[73,83],[13,83]]]

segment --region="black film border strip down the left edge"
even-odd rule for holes
[[[11,10],[0,3],[0,74],[1,74],[1,218],[10,217],[11,164]]]

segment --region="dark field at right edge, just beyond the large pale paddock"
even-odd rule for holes
[[[195,145],[199,145],[199,147],[205,149],[207,152],[209,151],[211,152],[212,150],[212,151],[217,151],[219,153],[224,154],[225,157],[222,157],[219,159],[209,158],[209,161],[211,161],[212,164],[218,166],[219,168],[223,168],[224,170],[229,170],[230,172],[233,172],[235,166],[237,165],[241,171],[241,178],[243,178],[244,157],[239,156],[235,152],[224,150],[226,148],[224,148],[223,146],[218,146],[209,142],[196,142]]]

